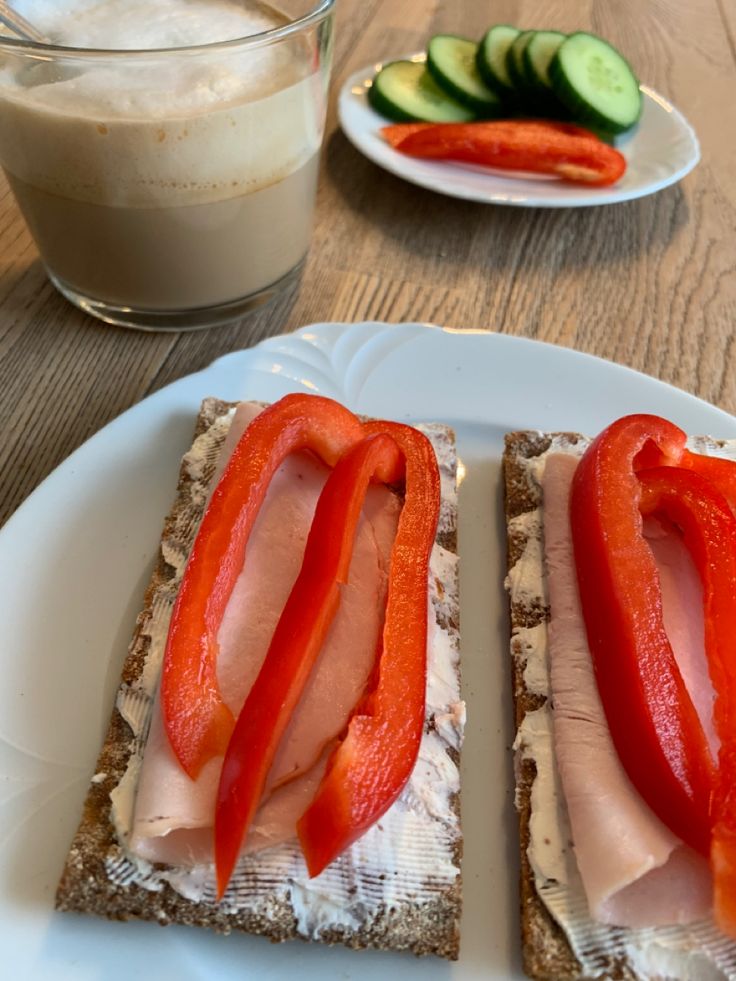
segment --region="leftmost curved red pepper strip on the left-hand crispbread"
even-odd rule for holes
[[[287,395],[250,424],[215,488],[174,604],[161,681],[169,742],[193,779],[225,752],[233,729],[217,684],[217,632],[271,477],[295,450],[332,466],[362,438],[358,418],[337,402]]]

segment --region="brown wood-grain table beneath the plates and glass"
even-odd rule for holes
[[[0,185],[0,523],[130,405],[228,351],[322,320],[427,320],[539,338],[629,365],[736,412],[736,7],[724,0],[498,0],[522,27],[591,29],[695,127],[680,184],[578,210],[503,208],[384,173],[340,132],[353,71],[480,37],[480,0],[338,0],[314,239],[301,281],[247,320],[192,334],[104,327],[47,281]]]

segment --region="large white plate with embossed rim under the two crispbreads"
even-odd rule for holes
[[[449,966],[409,955],[59,914],[53,896],[200,400],[320,392],[457,431],[465,911]],[[500,455],[519,428],[595,432],[646,411],[690,432],[736,419],[644,375],[573,351],[421,324],[318,324],[229,354],[136,405],[73,453],[0,531],[0,975],[508,981],[521,977],[509,744]]]

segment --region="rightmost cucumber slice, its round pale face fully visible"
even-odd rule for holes
[[[549,73],[555,93],[583,125],[623,133],[641,115],[639,83],[629,63],[594,34],[571,34]]]

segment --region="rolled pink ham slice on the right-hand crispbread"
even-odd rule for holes
[[[555,755],[577,864],[595,919],[629,927],[687,923],[710,911],[710,872],[644,803],[611,740],[575,577],[569,499],[576,466],[574,457],[550,454],[543,488]],[[673,532],[651,524],[648,534],[662,563],[665,623],[675,657],[706,717],[712,690],[709,695],[697,573]]]

